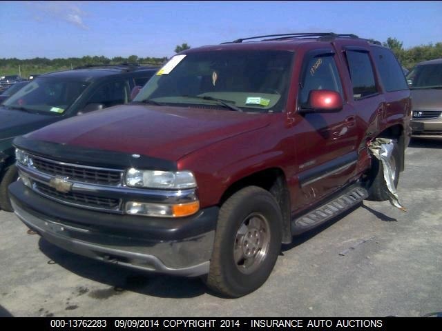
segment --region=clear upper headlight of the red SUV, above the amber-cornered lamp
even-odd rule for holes
[[[135,188],[162,188],[182,190],[196,188],[196,181],[190,171],[137,170],[126,171],[126,185]]]

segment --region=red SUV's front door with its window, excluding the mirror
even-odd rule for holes
[[[342,188],[354,176],[358,159],[356,113],[343,93],[332,48],[306,54],[300,75],[298,109],[308,108],[311,90],[333,90],[343,109],[333,113],[296,113],[296,156],[300,196],[296,209]]]

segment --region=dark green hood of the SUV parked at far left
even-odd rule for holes
[[[51,115],[32,114],[0,106],[0,140],[26,134],[59,120]]]

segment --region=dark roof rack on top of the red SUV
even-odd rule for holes
[[[270,38],[270,39],[262,39],[261,41],[271,41],[271,40],[286,40],[286,39],[317,39],[318,41],[330,41],[334,39],[363,39],[356,36],[356,34],[336,34],[334,32],[320,32],[320,33],[282,33],[282,34],[267,34],[264,36],[256,36],[256,37],[248,37],[248,38],[240,38],[234,41],[227,41],[225,43],[242,43],[245,40],[251,39],[260,39],[260,38]],[[379,41],[373,39],[363,39],[365,41],[369,41],[372,43],[376,43],[377,45],[381,45]],[[224,44],[224,43],[223,43]]]

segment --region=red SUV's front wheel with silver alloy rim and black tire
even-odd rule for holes
[[[282,214],[266,190],[249,186],[220,209],[206,283],[227,297],[242,297],[269,277],[280,253]]]

